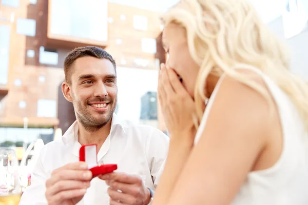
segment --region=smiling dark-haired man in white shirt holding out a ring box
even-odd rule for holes
[[[62,138],[43,148],[20,204],[149,204],[163,170],[168,137],[113,113],[116,66],[103,49],[74,49],[65,58],[64,72],[62,92],[73,103],[77,120]],[[114,179],[107,181],[112,183],[109,188],[99,177],[92,179],[85,162],[79,162],[79,149],[87,144],[98,145],[99,161],[118,165]]]

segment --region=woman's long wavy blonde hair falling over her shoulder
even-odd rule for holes
[[[162,20],[165,25],[176,23],[185,28],[189,53],[200,65],[195,87],[199,122],[204,112],[208,74],[232,76],[272,102],[262,86],[235,69],[255,67],[291,98],[308,130],[308,86],[290,72],[288,49],[262,22],[248,0],[182,0],[163,14]]]

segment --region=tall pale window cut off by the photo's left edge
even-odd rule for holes
[[[0,85],[8,83],[10,26],[0,25]]]

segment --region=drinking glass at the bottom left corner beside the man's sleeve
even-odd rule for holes
[[[21,195],[21,178],[18,173],[15,150],[0,147],[0,205],[18,205]]]

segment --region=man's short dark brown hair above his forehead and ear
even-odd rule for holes
[[[114,59],[104,49],[95,46],[79,47],[69,52],[69,54],[64,59],[64,75],[65,75],[65,81],[68,84],[71,84],[72,64],[76,59],[85,56],[108,59],[113,65],[115,72],[117,72],[116,71],[117,66],[115,65]]]

